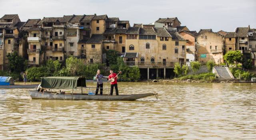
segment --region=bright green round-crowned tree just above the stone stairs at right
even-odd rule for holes
[[[242,63],[243,62],[243,54],[240,51],[228,51],[224,56],[224,60],[228,62],[228,64],[233,64],[234,62]]]

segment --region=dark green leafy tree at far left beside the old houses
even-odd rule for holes
[[[24,58],[22,56],[18,55],[18,52],[14,51],[11,54],[7,55],[8,58],[8,68],[11,72],[17,72],[20,73],[24,71]]]

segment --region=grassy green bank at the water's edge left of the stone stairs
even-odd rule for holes
[[[198,75],[186,75],[179,78],[174,78],[173,80],[195,80],[200,82],[213,82],[215,80],[215,74],[213,73],[204,73]]]

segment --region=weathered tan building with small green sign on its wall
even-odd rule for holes
[[[224,36],[212,32],[211,29],[201,29],[197,37],[198,61],[214,61],[221,64],[224,52]]]

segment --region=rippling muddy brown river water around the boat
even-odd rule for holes
[[[256,138],[256,84],[119,82],[118,89],[159,98],[42,100],[31,99],[30,89],[0,89],[0,140]]]

